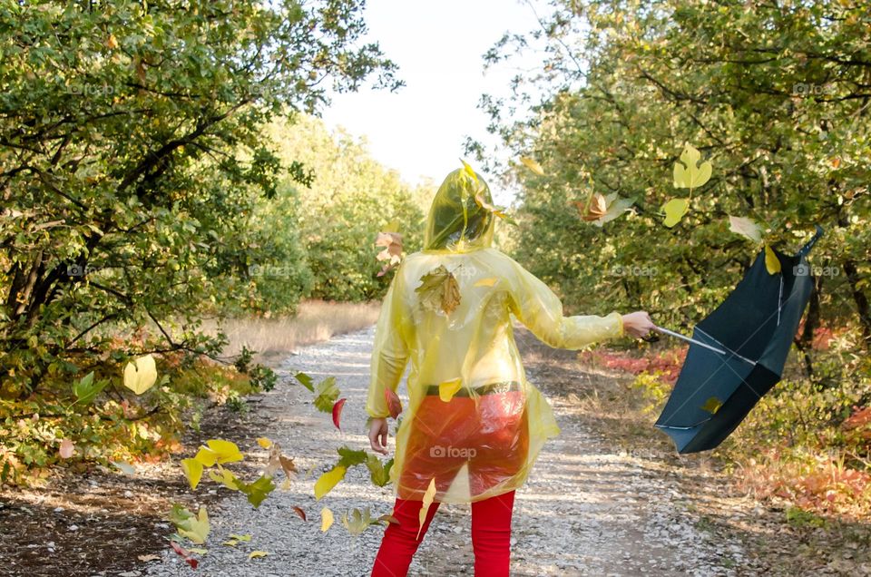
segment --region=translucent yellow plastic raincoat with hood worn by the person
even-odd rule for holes
[[[447,176],[429,212],[424,249],[396,269],[377,321],[369,416],[389,415],[386,391],[396,391],[411,360],[390,471],[394,493],[404,499],[422,499],[431,479],[441,503],[514,490],[544,442],[559,434],[551,406],[526,380],[511,314],[551,347],[575,350],[623,335],[618,312],[563,317],[547,285],[494,249],[491,203],[480,175],[460,169]],[[459,288],[455,308],[426,307],[416,291],[440,265]]]

